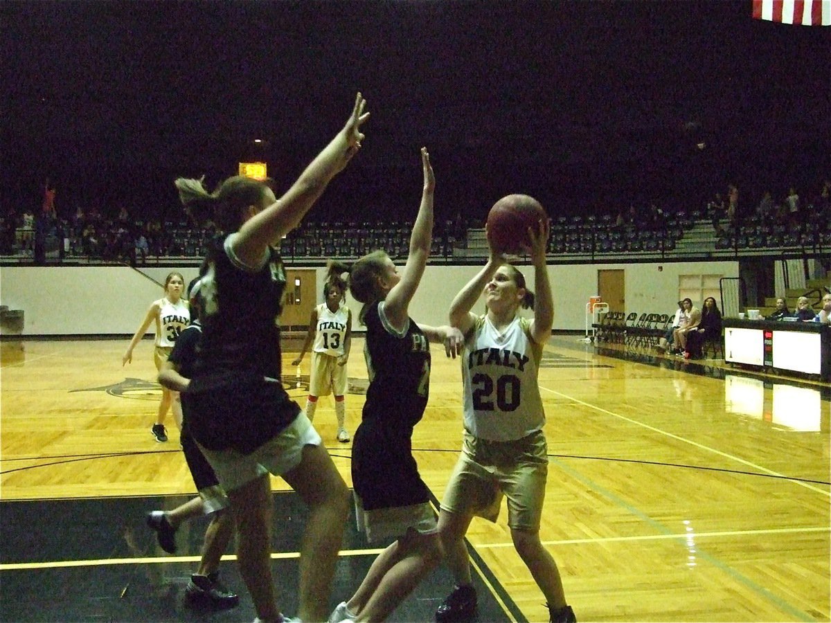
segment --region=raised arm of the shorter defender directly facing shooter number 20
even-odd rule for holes
[[[407,309],[424,274],[424,267],[427,264],[427,258],[430,257],[430,247],[433,243],[435,177],[426,147],[421,148],[421,168],[424,170],[424,188],[421,191],[421,205],[416,216],[416,223],[410,235],[410,253],[407,256],[404,272],[401,274],[401,281],[392,287],[384,302],[386,319],[392,326],[399,329],[406,323]]]

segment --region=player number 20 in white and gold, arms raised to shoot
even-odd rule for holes
[[[543,344],[553,325],[545,263],[548,219],[539,219],[527,231],[519,247],[534,264],[536,296],[526,287],[523,274],[497,250],[494,238],[503,238],[501,232],[494,235],[488,228],[488,262],[450,304],[450,324],[465,333],[465,437],[439,515],[445,561],[456,583],[435,613],[440,623],[475,615],[476,591],[465,533],[475,515],[495,522],[503,496],[508,498],[514,547],[543,591],[551,621],[576,621],[566,603],[557,564],[539,539],[548,445],[537,375]],[[477,316],[470,310],[482,294],[487,311]],[[520,307],[534,307],[534,318],[519,316]]]

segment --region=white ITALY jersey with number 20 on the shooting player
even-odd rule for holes
[[[545,424],[537,385],[543,346],[531,340],[529,327],[520,316],[503,332],[487,316],[475,321],[462,359],[465,429],[475,437],[512,441]]]

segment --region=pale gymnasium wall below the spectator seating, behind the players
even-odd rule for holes
[[[297,266],[299,267],[299,266]],[[598,269],[625,271],[627,312],[670,313],[676,309],[680,275],[721,274],[738,277],[738,262],[671,262],[554,265],[548,267],[554,296],[554,330],[583,331],[586,303],[596,294]],[[142,267],[164,282],[170,267]],[[177,268],[184,282],[196,276],[196,267]],[[520,267],[533,287],[532,267]],[[477,266],[428,266],[410,315],[424,324],[447,321],[450,301]],[[317,296],[322,301],[324,269],[317,268]],[[25,312],[24,336],[130,336],[140,326],[150,303],[162,289],[129,267],[0,267],[0,304]],[[701,302],[696,302],[700,304]],[[352,307],[356,331],[360,304]],[[483,310],[477,305],[474,311]],[[151,326],[150,331],[153,331]]]

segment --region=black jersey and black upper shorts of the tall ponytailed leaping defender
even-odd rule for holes
[[[234,261],[228,239],[200,271],[202,339],[183,406],[199,444],[248,453],[291,424],[300,407],[280,382],[283,262],[271,249],[263,267],[251,271]]]

